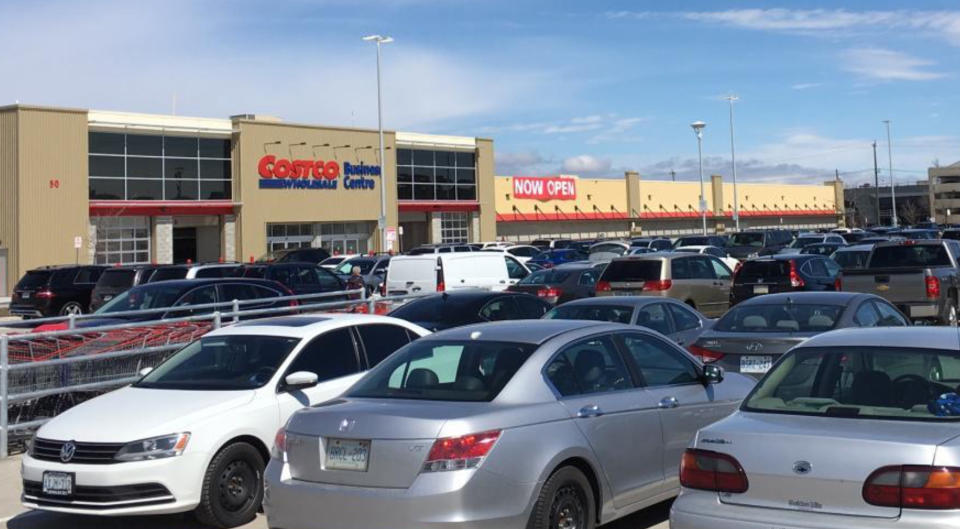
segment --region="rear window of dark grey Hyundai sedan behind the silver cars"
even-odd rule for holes
[[[713,330],[721,332],[824,332],[833,329],[843,305],[756,303],[730,309]]]

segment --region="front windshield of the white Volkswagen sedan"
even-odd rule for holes
[[[300,338],[207,336],[184,347],[134,384],[148,389],[242,390],[263,386]]]

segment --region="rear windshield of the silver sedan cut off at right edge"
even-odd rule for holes
[[[887,420],[958,420],[960,352],[909,347],[801,347],[743,410]]]

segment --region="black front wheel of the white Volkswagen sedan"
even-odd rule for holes
[[[263,468],[260,452],[248,443],[221,449],[204,474],[197,520],[224,529],[252,521],[263,502]]]

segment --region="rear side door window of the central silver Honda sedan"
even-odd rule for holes
[[[559,353],[547,378],[564,397],[630,389],[633,382],[609,336],[589,338]]]

